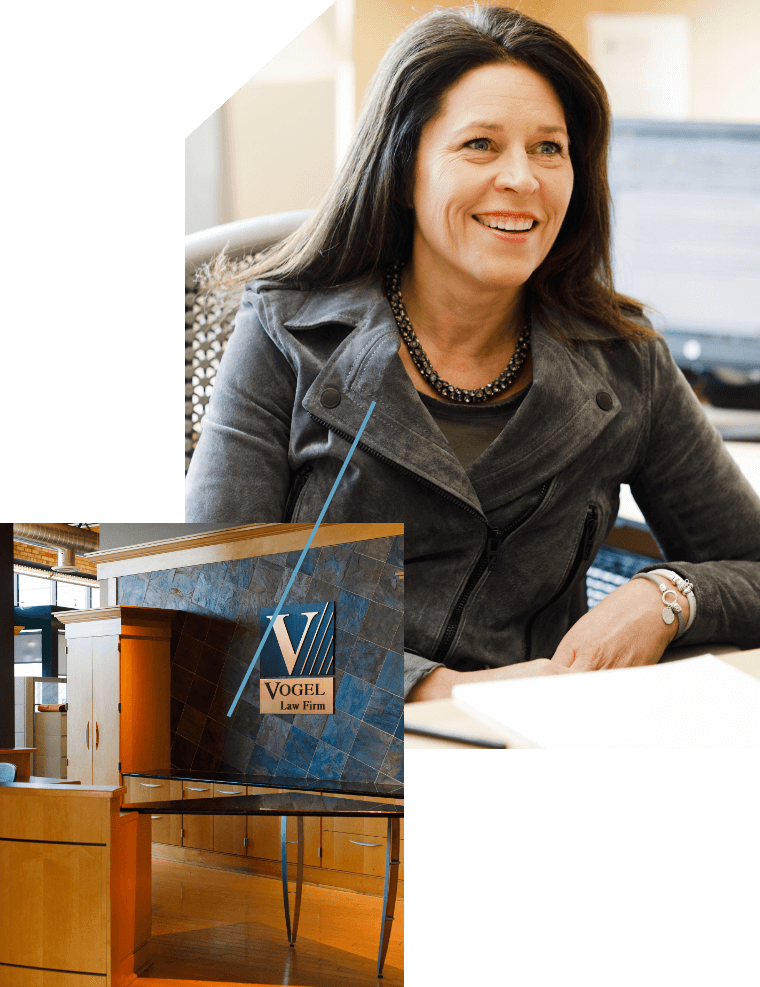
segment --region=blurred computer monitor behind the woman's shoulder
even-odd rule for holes
[[[613,274],[678,365],[760,381],[760,126],[614,119]]]

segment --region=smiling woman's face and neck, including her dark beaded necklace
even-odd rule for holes
[[[481,114],[492,122],[466,122]],[[482,130],[493,136],[468,139]],[[412,251],[394,294],[401,360],[423,394],[493,403],[530,383],[527,284],[573,191],[569,152],[547,134],[566,134],[562,104],[522,64],[471,70],[422,129]]]

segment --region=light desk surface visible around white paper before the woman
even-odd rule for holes
[[[713,650],[715,649],[715,650]],[[725,645],[695,645],[689,648],[669,649],[671,654],[663,656],[661,661],[673,661],[676,658],[691,658],[701,654],[715,654],[721,661],[728,662],[742,671],[748,672],[760,679],[760,648],[751,651],[726,650]],[[676,655],[672,652],[681,653]],[[415,729],[423,733],[415,733]],[[407,733],[407,731],[409,731]],[[467,743],[458,742],[433,734],[451,734],[458,736]],[[426,735],[431,734],[431,735]],[[453,699],[433,699],[424,703],[407,703],[404,706],[404,749],[425,748],[426,750],[487,750],[494,748],[519,749],[523,746],[518,738],[510,737],[470,716]]]

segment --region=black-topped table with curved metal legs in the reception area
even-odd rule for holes
[[[271,782],[271,779],[270,779]],[[138,812],[150,815],[185,815],[188,803],[183,800],[168,802],[135,802],[124,805],[125,812]],[[355,802],[349,799],[332,798],[308,791],[277,793],[273,795],[228,795],[224,798],[198,799],[192,805],[193,815],[230,816],[280,816],[280,848],[282,861],[282,895],[285,903],[285,925],[288,942],[295,945],[298,929],[298,915],[301,908],[301,885],[303,880],[303,817],[304,816],[369,816],[387,818],[388,843],[385,855],[385,892],[383,912],[380,921],[380,946],[377,954],[377,975],[382,977],[385,954],[391,934],[391,923],[396,904],[399,865],[399,820],[404,816],[404,807],[386,805],[380,802]],[[288,816],[298,817],[298,863],[296,871],[295,901],[293,904],[293,927],[290,925],[290,905],[288,902],[288,870],[286,850],[286,820]]]

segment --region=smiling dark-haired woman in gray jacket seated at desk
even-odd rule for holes
[[[384,54],[303,226],[236,276],[223,255],[206,272],[250,283],[185,521],[403,522],[407,700],[426,676],[450,691],[442,670],[757,639],[760,501],[615,290],[609,133],[599,76],[551,27],[436,8]],[[674,588],[633,578],[587,613],[621,484],[680,560],[659,574]]]

